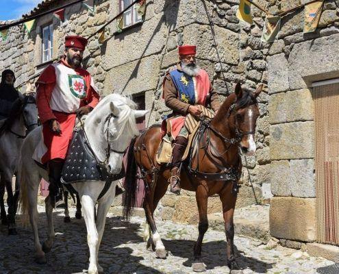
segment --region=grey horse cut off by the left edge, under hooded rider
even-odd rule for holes
[[[8,234],[16,233],[15,214],[18,201],[18,179],[13,195],[12,177],[17,171],[18,158],[26,132],[38,126],[38,110],[32,95],[21,96],[12,105],[8,119],[0,121],[0,210],[1,223],[8,224]],[[8,193],[8,217],[5,212],[3,195]]]

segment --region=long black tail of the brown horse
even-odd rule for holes
[[[138,137],[136,137],[138,138]],[[136,206],[136,187],[138,180],[136,179],[137,165],[134,157],[134,145],[136,138],[131,140],[127,153],[127,169],[125,177],[125,194],[123,195],[123,216],[127,221],[131,217],[132,208]]]

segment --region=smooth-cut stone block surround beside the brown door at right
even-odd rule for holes
[[[319,27],[310,34],[302,33],[303,10],[286,16],[279,40],[268,51],[270,173],[274,195],[270,229],[276,238],[316,240],[311,84],[339,75],[338,8],[339,1],[325,1]]]

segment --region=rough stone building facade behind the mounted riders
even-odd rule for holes
[[[257,0],[272,13],[288,10],[303,0]],[[32,14],[55,8],[66,1],[42,1]],[[237,82],[249,90],[268,84],[259,97],[260,117],[255,136],[258,151],[243,159],[242,188],[238,207],[271,199],[271,233],[276,238],[316,240],[314,122],[310,80],[328,79],[338,69],[339,1],[325,1],[319,28],[303,34],[303,10],[284,16],[277,42],[261,42],[264,14],[253,8],[252,26],[238,21],[238,0],[147,1],[142,23],[116,32],[116,23],[106,28],[106,38],[88,43],[84,66],[102,95],[119,92],[145,100],[150,110],[145,126],[159,123],[169,110],[162,101],[162,77],[177,63],[177,45],[197,45],[197,62],[203,67],[223,100]],[[17,83],[29,81],[47,64],[41,64],[41,29],[53,24],[53,58],[63,52],[64,36],[88,37],[119,12],[118,0],[97,0],[92,15],[81,4],[66,8],[66,21],[43,16],[27,34],[13,27],[7,41],[0,42],[0,70],[13,69]],[[309,52],[312,51],[312,58]],[[336,55],[336,58],[329,56]],[[314,66],[317,64],[317,66]],[[315,78],[318,75],[317,78]],[[321,76],[320,76],[321,75]],[[29,80],[30,79],[30,80]],[[22,91],[34,90],[23,85]],[[292,210],[292,208],[293,210]],[[187,210],[192,208],[192,210]],[[192,192],[180,197],[167,194],[158,215],[186,223],[197,223]],[[286,208],[291,210],[286,211]],[[294,210],[298,208],[298,210]],[[209,199],[209,213],[220,212],[218,197]],[[287,216],[286,212],[291,216]],[[298,222],[303,218],[305,222]],[[300,223],[310,233],[297,232]],[[288,226],[290,228],[288,228]],[[312,230],[313,229],[313,230]],[[300,229],[299,229],[300,230]],[[314,232],[314,233],[313,233]],[[313,234],[312,234],[313,233]]]

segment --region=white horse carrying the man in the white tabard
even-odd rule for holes
[[[123,164],[123,153],[129,142],[138,135],[136,118],[147,114],[147,110],[135,110],[136,104],[121,95],[108,95],[103,98],[97,107],[84,119],[84,132],[95,156],[100,162],[105,162],[109,173],[118,174]],[[35,260],[46,263],[45,253],[51,250],[54,240],[54,228],[52,220],[53,208],[49,197],[45,199],[48,221],[48,238],[40,245],[37,227],[37,195],[41,177],[48,179],[47,171],[38,167],[32,159],[34,148],[40,140],[41,129],[35,129],[27,136],[21,150],[21,163],[19,175],[21,177],[21,210],[24,216],[29,214],[29,221],[34,232],[36,248]],[[109,149],[109,153],[107,153]],[[98,253],[105,217],[115,196],[115,188],[118,181],[112,182],[108,191],[98,200],[105,186],[103,181],[88,181],[72,184],[79,193],[82,205],[82,214],[87,227],[87,241],[90,249],[88,273],[102,272],[98,263]],[[97,207],[97,221],[95,221],[95,203]]]

